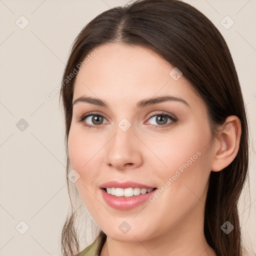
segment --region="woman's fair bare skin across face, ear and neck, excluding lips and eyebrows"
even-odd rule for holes
[[[79,194],[97,225],[107,235],[105,255],[216,255],[203,233],[203,213],[210,171],[227,166],[238,151],[240,121],[228,116],[211,138],[206,107],[185,77],[174,80],[174,66],[141,46],[112,43],[97,47],[98,53],[78,72],[73,100],[81,96],[103,99],[109,108],[85,102],[73,105],[68,137],[71,166],[80,177]],[[172,95],[184,99],[136,108],[145,98]],[[104,118],[99,127],[90,117],[96,111]],[[172,113],[161,127],[149,114]],[[118,127],[122,118],[131,126]],[[155,127],[154,125],[158,125]],[[132,180],[158,189],[197,151],[200,156],[154,202],[130,209],[110,207],[103,200],[100,184]],[[118,226],[126,221],[130,230]]]

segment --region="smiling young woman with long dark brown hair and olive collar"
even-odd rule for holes
[[[66,174],[100,228],[78,256],[242,255],[246,113],[208,18],[177,0],[104,11],[72,45],[61,99]],[[64,255],[79,251],[75,217]]]

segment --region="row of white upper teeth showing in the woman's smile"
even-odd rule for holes
[[[132,197],[140,194],[150,193],[151,191],[155,190],[154,188],[139,188],[139,187],[128,187],[128,188],[121,188],[121,187],[105,187],[102,188],[108,194],[114,195],[116,197]]]

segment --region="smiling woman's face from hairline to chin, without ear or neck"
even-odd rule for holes
[[[212,161],[205,105],[179,70],[153,51],[123,44],[97,50],[76,76],[68,136],[85,206],[117,240],[198,228]],[[157,100],[162,96],[169,99]]]

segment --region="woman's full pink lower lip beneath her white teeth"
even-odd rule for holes
[[[103,199],[106,203],[119,210],[128,210],[135,208],[136,206],[142,204],[144,201],[148,199],[157,189],[152,190],[149,193],[133,195],[130,197],[117,197],[112,194],[108,194],[104,189],[101,188]]]

